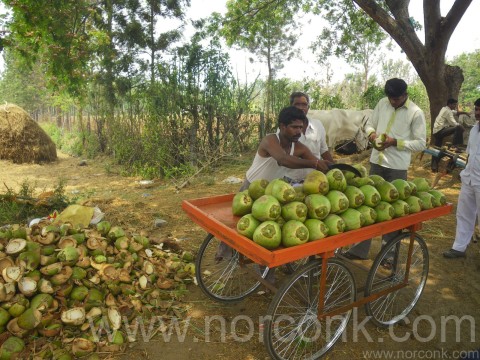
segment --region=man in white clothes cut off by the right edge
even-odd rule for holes
[[[477,124],[468,137],[468,162],[460,173],[462,187],[457,204],[457,229],[452,248],[443,253],[448,259],[464,258],[472,235],[475,221],[480,213],[480,98],[474,103]]]

